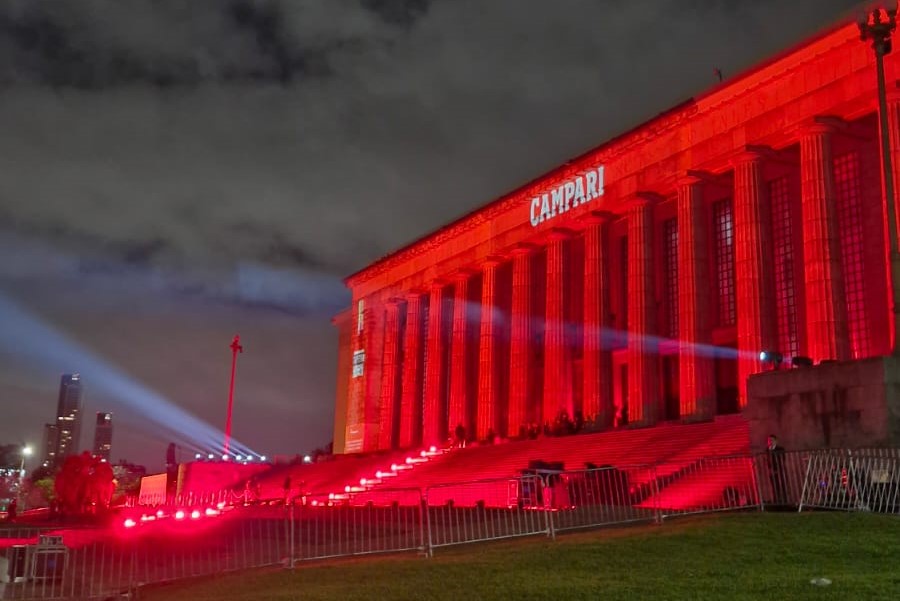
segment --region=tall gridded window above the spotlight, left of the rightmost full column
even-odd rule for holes
[[[769,182],[769,198],[772,201],[778,348],[787,356],[793,357],[800,353],[800,341],[794,279],[794,222],[789,184],[787,176]]]

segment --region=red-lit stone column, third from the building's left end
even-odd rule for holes
[[[428,362],[425,367],[425,403],[422,408],[422,443],[443,444],[446,438],[447,370],[444,340],[444,282],[432,282],[428,303]]]

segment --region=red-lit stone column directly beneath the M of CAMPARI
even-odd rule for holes
[[[544,402],[542,422],[553,422],[568,407],[566,391],[571,354],[566,348],[566,280],[569,233],[550,233],[547,244],[547,305],[544,327]]]

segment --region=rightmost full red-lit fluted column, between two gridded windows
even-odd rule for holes
[[[815,361],[850,357],[847,303],[831,156],[831,128],[815,123],[800,137],[807,354]]]

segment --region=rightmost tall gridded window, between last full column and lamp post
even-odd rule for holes
[[[844,293],[847,297],[850,352],[854,359],[859,359],[868,357],[872,348],[866,320],[859,153],[848,152],[835,157],[834,187],[841,244],[841,267],[844,270]]]

